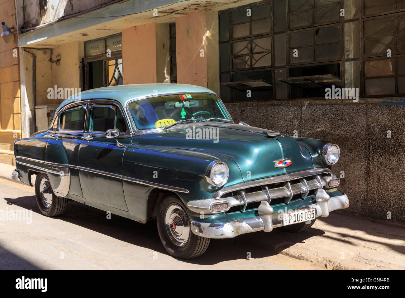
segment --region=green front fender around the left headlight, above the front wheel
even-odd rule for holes
[[[205,179],[205,172],[212,161],[223,161],[228,165],[229,178],[224,185],[243,182],[238,165],[226,157],[181,148],[131,145],[125,150],[122,176],[186,189],[180,192],[184,198],[208,199],[218,190]]]

